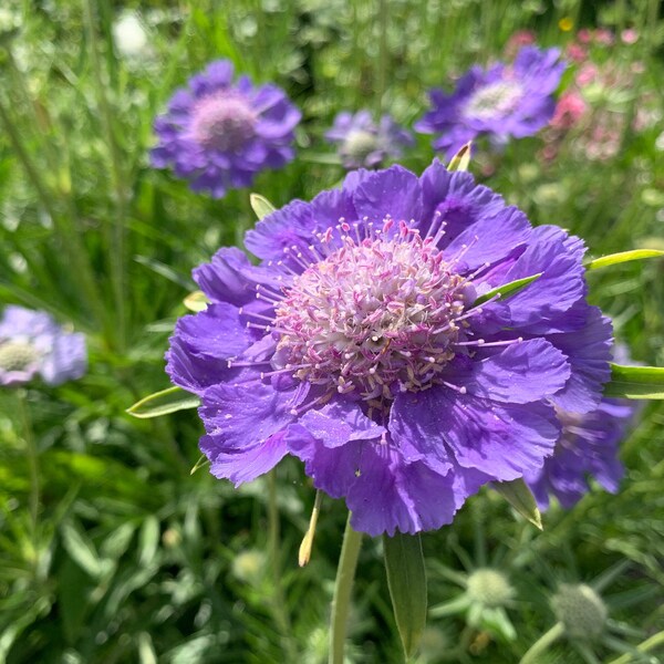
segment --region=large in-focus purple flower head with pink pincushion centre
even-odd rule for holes
[[[201,397],[215,476],[294,455],[370,535],[438,528],[481,485],[541,468],[556,407],[593,411],[610,377],[581,240],[439,162],[353,172],[246,247],[260,264],[224,248],[195,270],[210,304],[178,321],[167,371]]]

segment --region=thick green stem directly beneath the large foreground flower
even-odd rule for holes
[[[351,592],[355,568],[362,547],[362,533],[353,530],[351,515],[343,533],[343,546],[336,568],[334,596],[332,598],[332,620],[330,624],[330,658],[329,664],[343,664],[343,646],[345,643],[346,624],[351,608]]]

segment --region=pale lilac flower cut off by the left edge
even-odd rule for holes
[[[0,319],[0,385],[40,375],[49,385],[80,378],[87,367],[85,336],[65,332],[43,311],[4,308]]]

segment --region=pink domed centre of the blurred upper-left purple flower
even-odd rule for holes
[[[194,138],[208,149],[236,151],[253,137],[255,127],[251,106],[226,91],[203,97],[194,111]]]

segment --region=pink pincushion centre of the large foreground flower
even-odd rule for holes
[[[361,239],[342,224],[342,247],[294,277],[276,308],[274,363],[364,400],[432,386],[455,355],[469,291],[433,238],[392,226]]]

